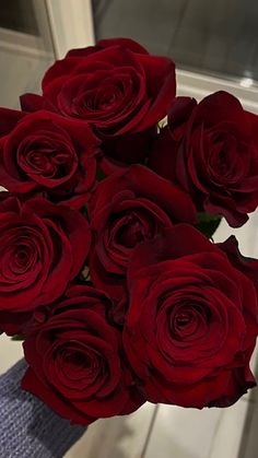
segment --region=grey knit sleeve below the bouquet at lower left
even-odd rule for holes
[[[20,388],[24,360],[0,376],[0,458],[62,458],[85,427],[71,425]]]

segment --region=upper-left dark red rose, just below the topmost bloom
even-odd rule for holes
[[[98,143],[84,122],[0,108],[0,184],[80,208],[95,185]]]

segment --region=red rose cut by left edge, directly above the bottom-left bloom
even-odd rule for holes
[[[21,202],[3,192],[0,198],[0,329],[15,333],[78,275],[91,233],[69,207],[43,198]]]

